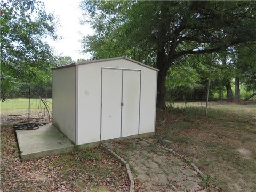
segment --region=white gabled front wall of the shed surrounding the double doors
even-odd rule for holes
[[[100,141],[101,68],[141,70],[140,131],[155,131],[157,71],[120,59],[77,65],[77,144]]]

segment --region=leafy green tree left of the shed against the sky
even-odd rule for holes
[[[39,1],[1,1],[1,99],[24,85],[49,85],[55,57],[54,16]],[[22,84],[22,85],[21,85]]]

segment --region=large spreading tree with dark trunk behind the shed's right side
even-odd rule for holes
[[[84,38],[93,59],[128,55],[155,65],[158,107],[170,67],[188,54],[232,51],[256,39],[253,1],[83,1],[95,34]]]

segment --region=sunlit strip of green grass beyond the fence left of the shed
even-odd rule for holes
[[[45,100],[45,99],[43,99]],[[52,108],[52,99],[46,99],[49,103],[50,109]],[[43,102],[40,99],[30,99],[30,109],[38,109],[43,106]],[[28,109],[28,99],[17,98],[17,99],[7,99],[1,102],[1,111],[10,110],[26,110]]]

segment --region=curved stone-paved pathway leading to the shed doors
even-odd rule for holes
[[[154,143],[154,142],[153,142]],[[141,139],[105,143],[123,157],[146,191],[199,191],[199,175],[170,152]]]

